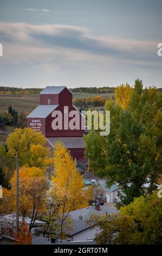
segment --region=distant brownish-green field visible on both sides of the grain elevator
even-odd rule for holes
[[[114,96],[113,93],[101,93],[101,94],[92,94],[92,93],[73,93],[73,99],[78,97],[93,97],[100,95],[109,98],[109,96]],[[9,106],[15,108],[18,112],[27,111],[31,112],[39,104],[39,95],[38,94],[25,94],[25,95],[0,95],[0,112],[7,111]]]

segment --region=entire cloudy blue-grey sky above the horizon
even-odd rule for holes
[[[0,86],[162,87],[161,0],[0,0]]]

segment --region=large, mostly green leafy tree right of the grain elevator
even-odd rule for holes
[[[86,156],[89,154],[92,170],[107,178],[109,186],[119,183],[121,205],[152,192],[161,174],[162,114],[156,101],[156,89],[143,91],[142,81],[136,80],[127,109],[111,101],[106,103],[111,111],[111,132],[106,142],[101,145],[98,131],[86,137]],[[105,153],[103,166],[96,145]]]

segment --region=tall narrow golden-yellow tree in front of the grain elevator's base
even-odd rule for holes
[[[59,198],[60,235],[63,237],[64,224],[69,221],[70,211],[86,207],[91,199],[91,188],[85,190],[85,182],[76,170],[76,163],[61,142],[56,142],[54,148],[53,189]]]

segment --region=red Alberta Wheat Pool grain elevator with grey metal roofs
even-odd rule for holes
[[[54,130],[53,124],[58,124],[57,111],[62,114],[62,129]],[[68,124],[74,118],[73,111],[77,111],[73,106],[73,93],[66,86],[48,86],[40,93],[40,105],[28,115],[27,127],[43,133],[47,140],[46,147],[50,148],[51,154],[55,142],[61,141],[77,161],[85,163],[85,118],[77,111],[79,126],[77,125],[77,129],[70,129]]]

